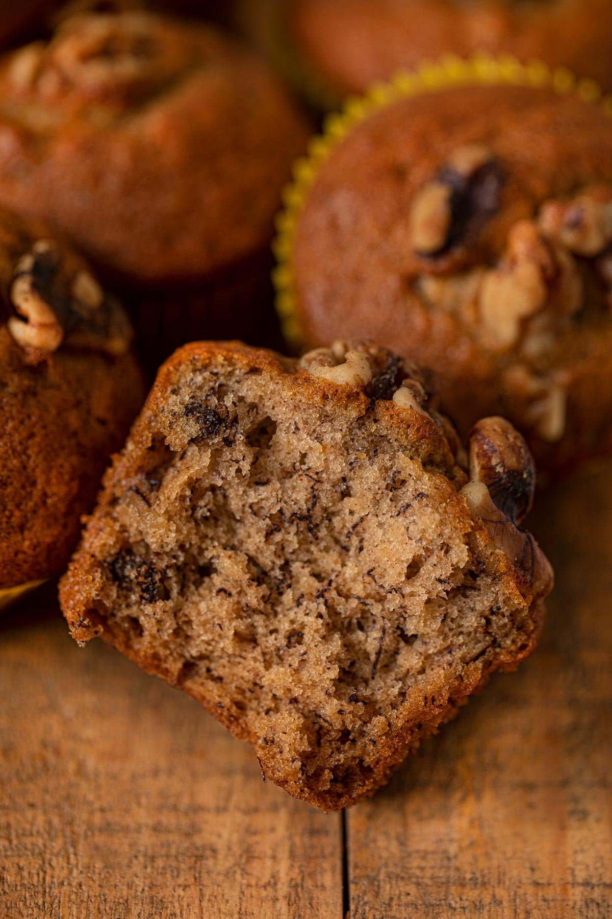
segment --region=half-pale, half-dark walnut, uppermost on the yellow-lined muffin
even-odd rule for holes
[[[409,216],[417,255],[437,257],[467,244],[499,207],[502,169],[481,145],[461,147],[421,188]]]

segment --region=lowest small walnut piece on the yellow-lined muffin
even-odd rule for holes
[[[513,399],[525,403],[523,416],[538,437],[558,443],[565,433],[567,416],[567,393],[562,384],[519,364],[506,370],[504,385]]]

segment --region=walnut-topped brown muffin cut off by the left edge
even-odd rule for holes
[[[144,400],[128,318],[45,227],[0,211],[0,606],[58,573]]]

